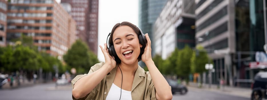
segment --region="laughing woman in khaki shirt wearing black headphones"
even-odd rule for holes
[[[151,58],[151,41],[140,44],[142,31],[129,22],[117,23],[109,38],[109,48],[100,46],[105,63],[97,63],[88,74],[72,80],[73,99],[170,100],[171,88]],[[141,37],[140,37],[141,35]],[[112,55],[112,56],[111,56]],[[138,65],[142,60],[149,69]]]

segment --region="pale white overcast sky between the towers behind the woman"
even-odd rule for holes
[[[61,0],[56,0],[60,3]],[[98,60],[105,61],[99,47],[106,43],[108,33],[116,23],[128,21],[138,25],[138,2],[139,0],[99,0],[98,3]]]

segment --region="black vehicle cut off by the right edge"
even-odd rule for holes
[[[257,73],[254,77],[254,82],[252,83],[251,88],[251,100],[267,99],[267,72]]]

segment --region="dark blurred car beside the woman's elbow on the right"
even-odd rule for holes
[[[178,84],[177,81],[172,79],[166,79],[169,85],[171,86],[171,92],[174,94],[175,92],[179,92],[181,95],[187,93],[187,87],[182,84]]]

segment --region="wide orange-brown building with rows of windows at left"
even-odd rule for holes
[[[11,0],[7,24],[7,42],[32,36],[39,50],[59,59],[75,41],[76,23],[55,0]]]

